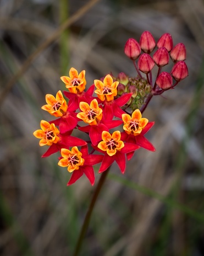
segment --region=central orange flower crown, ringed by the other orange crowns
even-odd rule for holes
[[[102,119],[103,110],[98,107],[96,99],[93,99],[90,105],[86,102],[80,102],[79,108],[82,112],[78,113],[77,117],[89,125],[96,125]]]

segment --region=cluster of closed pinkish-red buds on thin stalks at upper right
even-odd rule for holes
[[[154,50],[155,52],[153,53]],[[149,31],[144,31],[139,42],[133,38],[126,41],[124,52],[126,56],[134,61],[134,66],[141,80],[144,79],[141,72],[146,74],[146,82],[151,88],[152,95],[162,94],[164,90],[174,88],[188,76],[188,67],[185,63],[185,45],[180,42],[173,47],[173,39],[169,33],[163,34],[156,42]],[[172,70],[170,72],[162,72],[162,67],[169,64],[170,58],[173,61]],[[155,82],[153,82],[151,72],[155,66],[158,67],[158,72]],[[139,95],[139,89],[136,87],[136,92],[139,98],[137,101],[142,104],[143,100],[144,103],[142,98],[147,96],[147,90],[143,88]],[[137,103],[136,105],[139,106]]]

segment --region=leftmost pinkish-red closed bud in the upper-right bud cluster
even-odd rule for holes
[[[128,41],[126,41],[124,52],[131,60],[136,60],[141,54],[139,42],[134,38],[129,38]]]

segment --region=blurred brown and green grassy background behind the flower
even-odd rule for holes
[[[95,186],[83,176],[67,187],[59,154],[41,158],[47,148],[32,132],[53,119],[41,106],[45,94],[65,89],[60,76],[70,67],[86,70],[87,88],[109,72],[136,76],[124,45],[148,30],[156,41],[170,33],[174,45],[185,44],[189,77],[148,105],[144,117],[155,126],[147,138],[156,152],[138,150],[124,175],[113,165],[80,255],[202,256],[204,2],[96,1],[61,33],[60,24],[87,3],[0,1],[0,254],[72,255],[98,167]],[[60,35],[42,47],[53,33]]]

